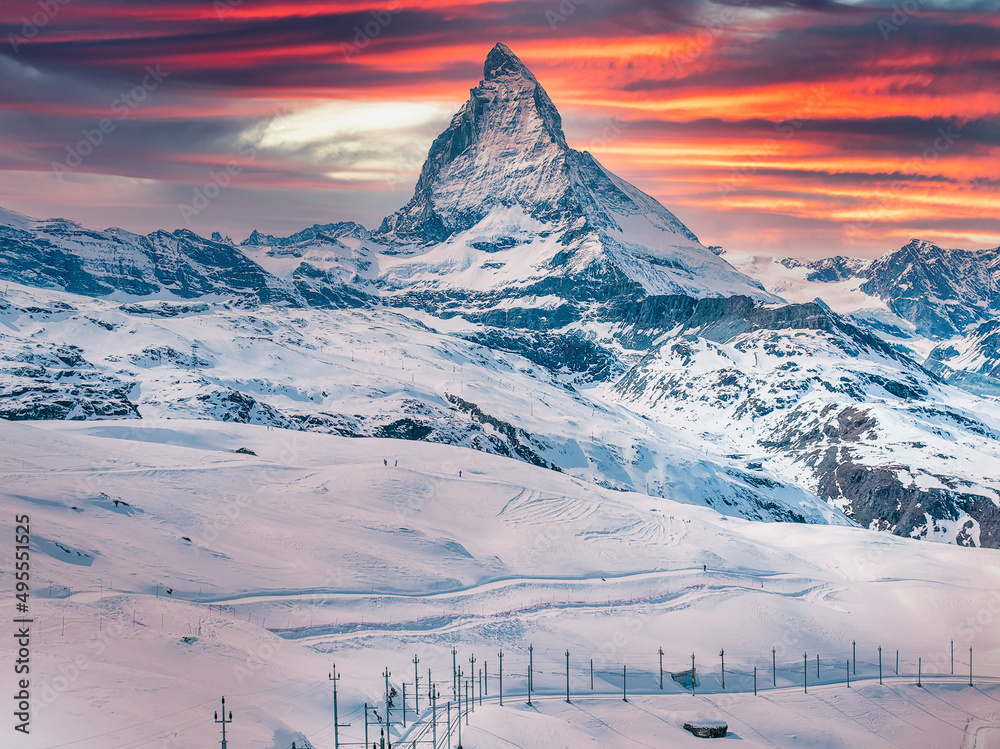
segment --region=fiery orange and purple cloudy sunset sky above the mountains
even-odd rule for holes
[[[4,0],[0,206],[237,241],[374,228],[502,41],[570,145],[705,244],[997,246],[998,5]]]

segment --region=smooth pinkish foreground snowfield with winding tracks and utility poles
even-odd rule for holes
[[[208,421],[9,423],[0,473],[0,503],[29,514],[33,536],[39,709],[17,746],[210,745],[225,695],[230,746],[325,749],[334,663],[340,741],[359,742],[363,703],[384,717],[385,668],[393,688],[408,682],[413,720],[414,654],[422,690],[427,670],[439,685],[443,735],[452,647],[487,665],[492,705],[463,726],[469,746],[695,745],[680,724],[706,715],[754,747],[959,746],[996,725],[1000,653],[983,624],[996,551],[746,522],[446,445]],[[962,686],[970,645],[975,689]],[[669,676],[660,691],[658,648],[668,671],[696,653],[698,697]],[[808,695],[802,651],[829,684],[810,674]],[[10,721],[0,730],[15,745]]]

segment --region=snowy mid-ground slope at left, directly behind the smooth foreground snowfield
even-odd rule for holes
[[[9,419],[202,418],[463,445],[618,489],[760,519],[847,522],[808,491],[516,354],[399,311],[118,305],[11,287],[0,309]],[[70,346],[65,341],[73,341]],[[44,410],[43,410],[44,409]]]

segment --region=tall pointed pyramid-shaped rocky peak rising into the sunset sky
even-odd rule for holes
[[[566,143],[562,118],[503,44],[430,148],[413,197],[373,236],[389,286],[747,295],[775,300],[654,198]],[[610,286],[609,286],[610,284]],[[566,290],[566,289],[563,289]]]

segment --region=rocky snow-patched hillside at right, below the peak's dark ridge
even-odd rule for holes
[[[1000,543],[1000,408],[821,305],[693,319],[610,392],[865,526]]]

